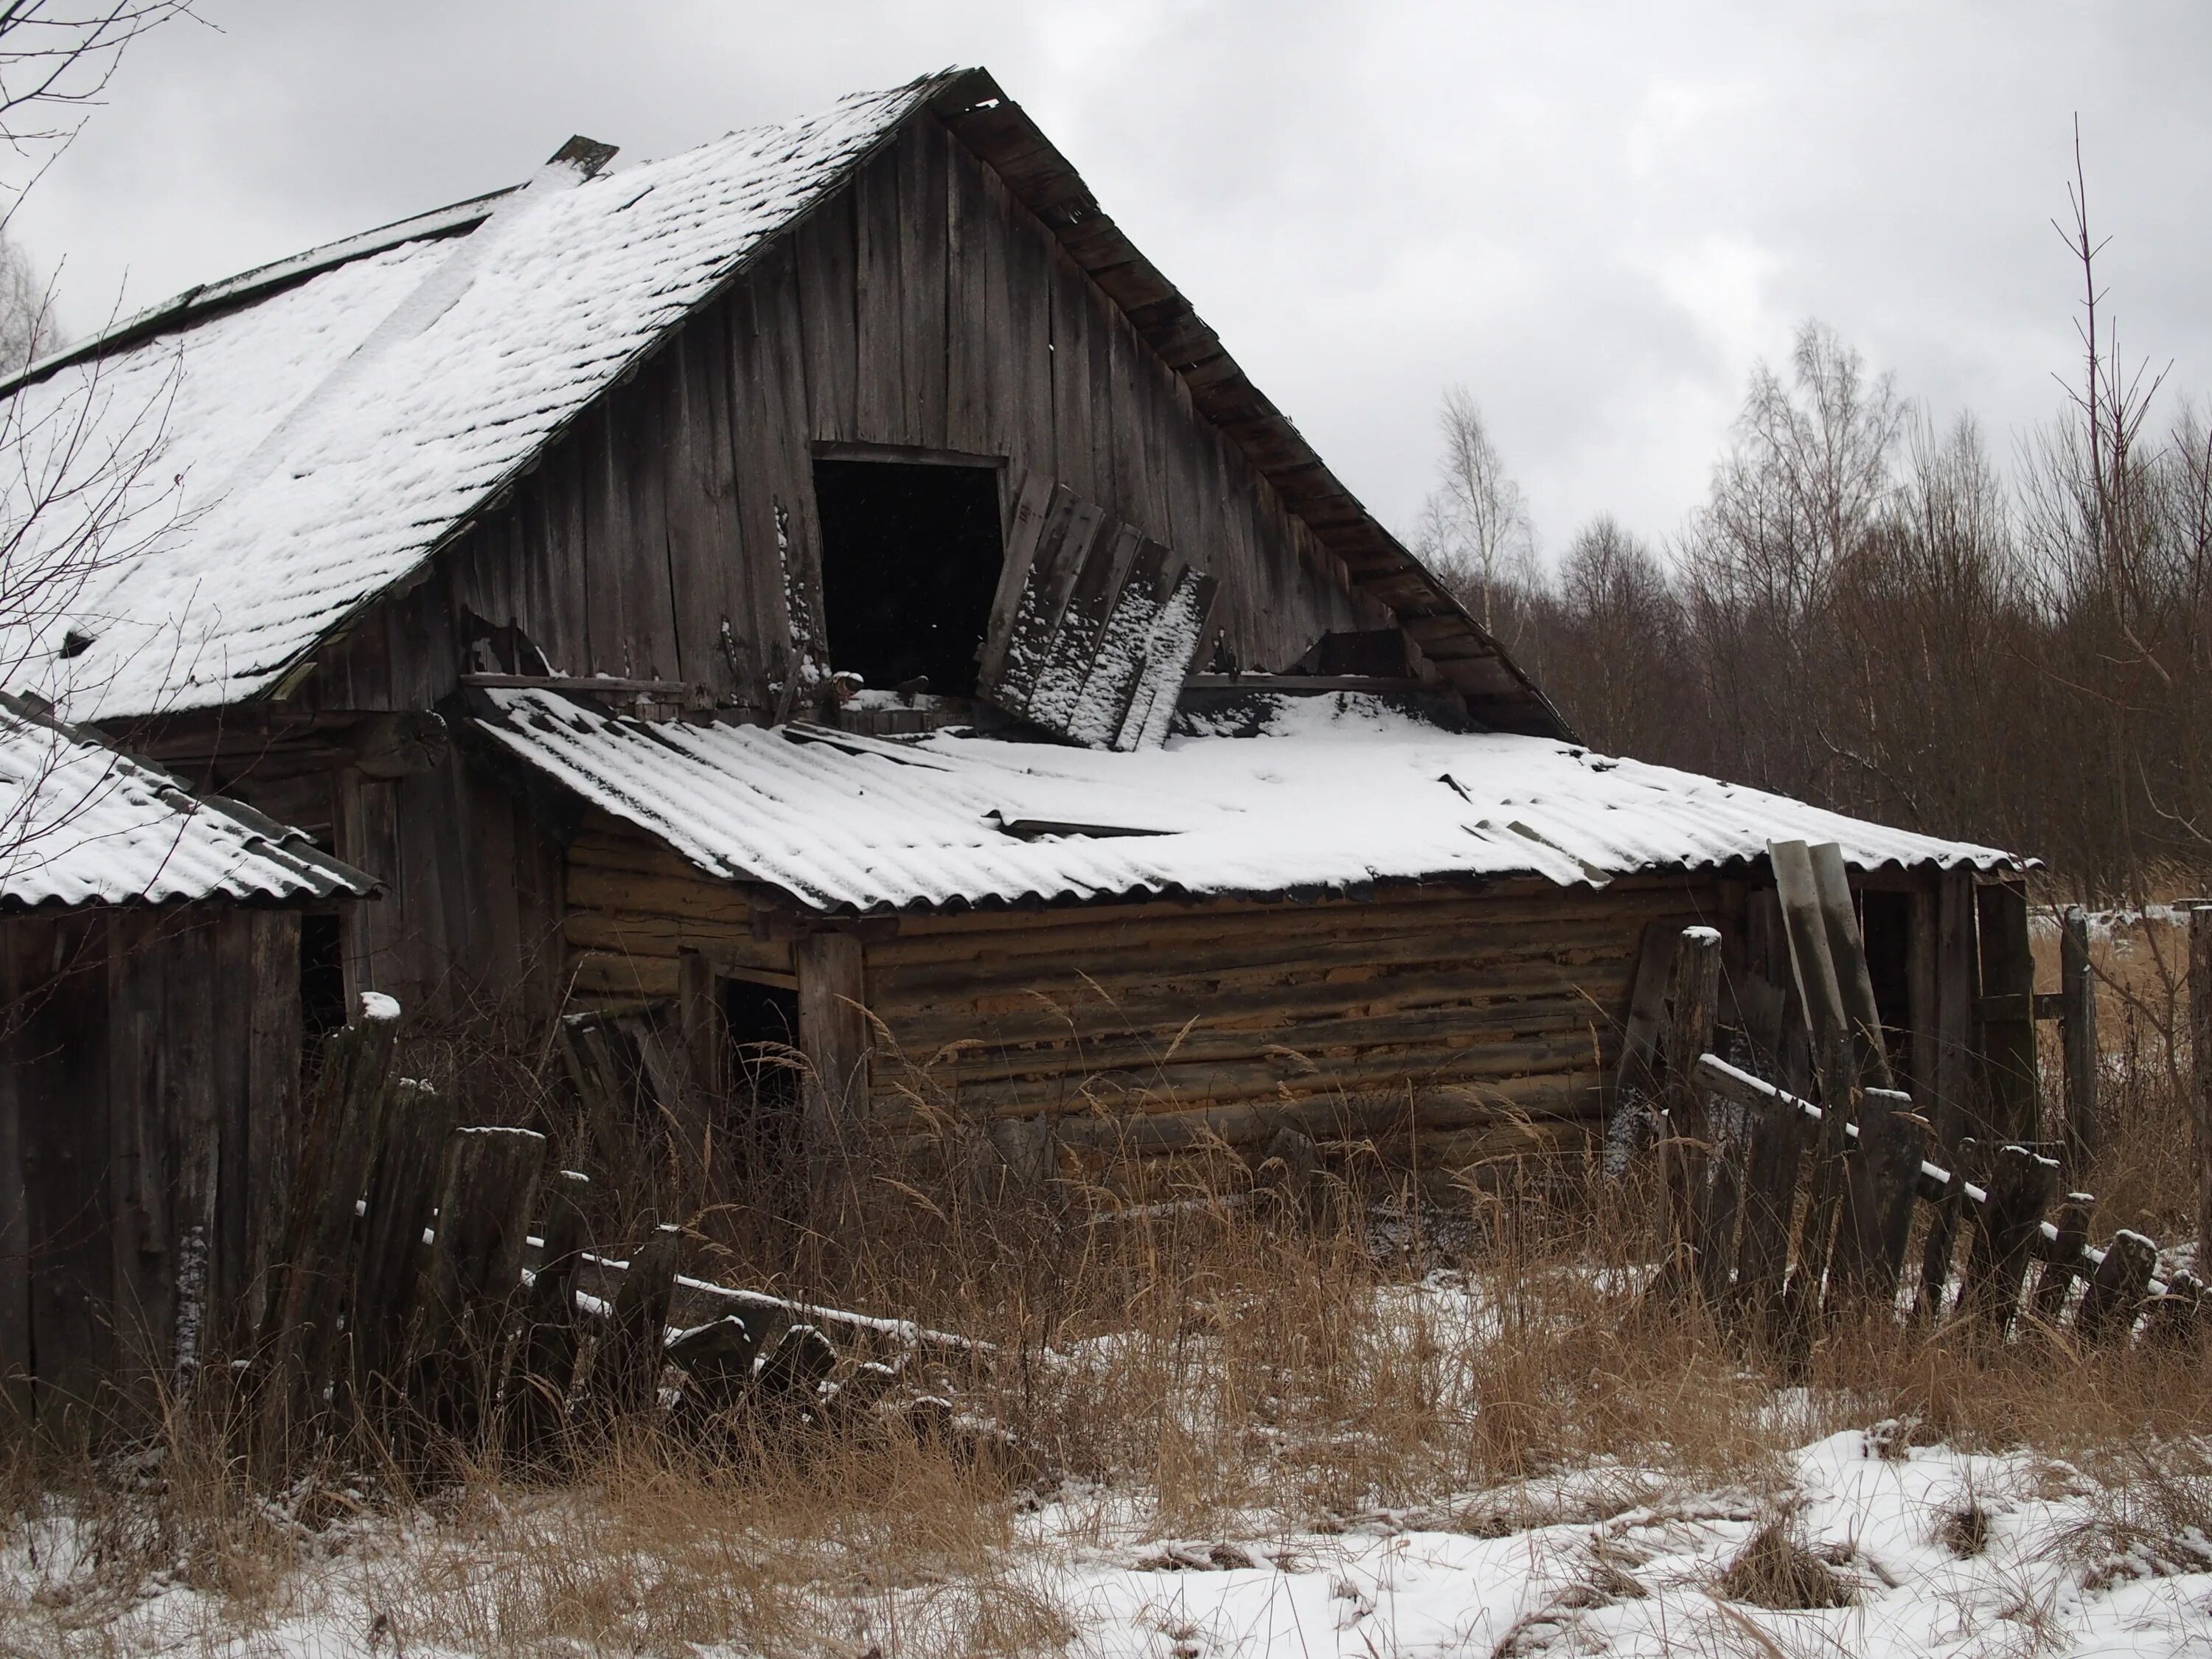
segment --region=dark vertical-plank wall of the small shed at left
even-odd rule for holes
[[[0,998],[0,1389],[82,1433],[252,1325],[292,1168],[299,914],[15,916]]]

